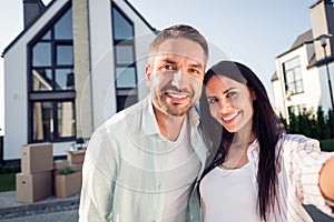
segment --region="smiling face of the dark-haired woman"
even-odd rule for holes
[[[210,114],[228,131],[250,132],[253,123],[253,100],[246,84],[224,75],[213,75],[206,84]]]

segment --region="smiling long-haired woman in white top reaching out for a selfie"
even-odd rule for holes
[[[222,61],[204,84],[203,132],[217,150],[199,185],[204,221],[312,221],[302,204],[333,216],[333,153],[283,132],[255,73]]]

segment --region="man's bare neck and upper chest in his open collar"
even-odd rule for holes
[[[157,123],[160,130],[160,133],[170,141],[176,141],[186,115],[176,117],[176,115],[168,115],[160,111],[159,109],[154,107],[154,112],[157,119]]]

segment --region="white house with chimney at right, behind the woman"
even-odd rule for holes
[[[312,29],[302,33],[288,51],[276,58],[276,72],[272,78],[274,105],[286,120],[289,113],[298,114],[304,109],[316,111],[318,105],[325,111],[332,109],[326,58],[333,84],[334,38],[324,38],[326,46],[323,48],[318,37],[334,34],[333,3],[320,0],[310,7],[310,13]]]

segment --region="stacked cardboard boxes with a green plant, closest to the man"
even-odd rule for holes
[[[80,192],[85,152],[86,150],[68,151],[67,160],[55,161],[55,186],[58,198],[67,198]],[[62,174],[61,172],[67,168],[72,172]]]

